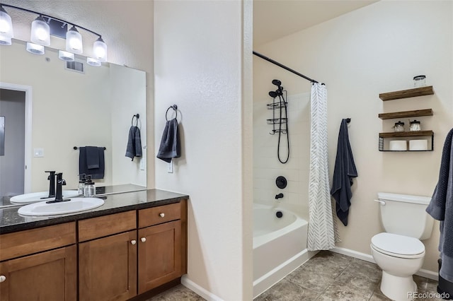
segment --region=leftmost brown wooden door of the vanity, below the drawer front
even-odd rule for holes
[[[76,246],[0,263],[1,301],[76,301]]]

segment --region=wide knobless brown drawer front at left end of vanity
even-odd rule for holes
[[[0,235],[0,261],[76,243],[76,223]]]

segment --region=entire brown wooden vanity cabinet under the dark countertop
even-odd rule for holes
[[[130,300],[183,273],[187,200],[0,235],[0,301]]]

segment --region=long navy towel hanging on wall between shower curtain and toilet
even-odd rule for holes
[[[336,200],[336,212],[343,225],[348,225],[349,207],[352,198],[352,178],[357,177],[354,157],[349,143],[348,122],[341,121],[340,132],[338,133],[337,156],[331,194]]]

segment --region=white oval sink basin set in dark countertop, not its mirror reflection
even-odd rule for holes
[[[70,201],[58,203],[30,203],[19,208],[18,213],[22,216],[59,216],[67,213],[75,213],[90,210],[104,204],[103,199],[98,198],[74,198]]]

